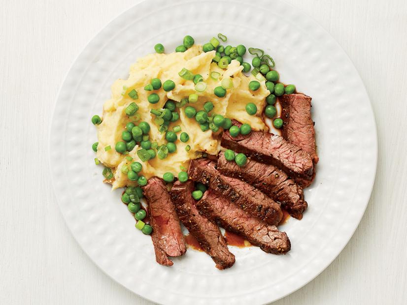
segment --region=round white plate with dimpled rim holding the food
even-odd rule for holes
[[[263,48],[280,72],[312,96],[318,153],[315,183],[305,191],[303,220],[282,227],[289,254],[235,248],[236,264],[218,271],[203,252],[188,250],[172,267],[155,262],[151,239],[136,230],[120,190],[102,183],[91,149],[90,118],[102,112],[110,85],[131,63],[168,52],[191,34],[204,43],[222,32],[228,43]],[[247,57],[249,59],[249,57]],[[364,85],[344,51],[313,20],[274,1],[142,2],[108,24],[72,65],[61,88],[50,133],[52,182],[73,236],[117,282],[165,304],[263,304],[320,274],[351,238],[369,201],[376,169],[376,127]]]

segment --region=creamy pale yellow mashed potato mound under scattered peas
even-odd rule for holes
[[[249,91],[248,84],[255,78],[252,75],[246,77],[242,74],[243,67],[236,60],[233,60],[226,70],[219,68],[216,63],[212,62],[214,56],[215,51],[204,53],[202,46],[199,45],[194,45],[184,53],[150,54],[131,66],[127,80],[119,79],[114,82],[111,87],[112,96],[103,105],[102,123],[97,126],[99,139],[97,157],[105,166],[112,169],[114,173],[114,179],[111,180],[113,189],[126,185],[136,185],[136,182],[128,180],[127,175],[120,170],[123,166],[129,166],[131,162],[138,161],[143,165],[140,175],[146,178],[153,176],[162,178],[166,172],[171,172],[176,177],[181,169],[188,168],[190,159],[200,157],[203,152],[217,154],[220,151],[218,136],[220,131],[215,134],[210,129],[203,132],[194,118],[189,119],[185,116],[184,109],[188,105],[199,111],[203,110],[205,102],[211,101],[214,109],[210,114],[221,114],[225,118],[248,123],[253,130],[268,130],[261,118],[266,104],[265,98],[270,94],[265,81],[260,82],[259,90]],[[193,81],[186,81],[181,78],[178,72],[182,68],[186,68],[194,74],[201,74],[207,85],[206,90],[197,92]],[[210,78],[209,75],[213,71],[220,73],[219,80],[215,81]],[[215,87],[221,86],[222,78],[226,77],[232,77],[234,87],[227,91],[225,97],[217,97],[213,90]],[[175,83],[175,88],[169,92],[164,91],[163,88],[156,91],[145,91],[144,86],[149,84],[152,78],[159,78],[162,83],[166,80],[172,80]],[[138,93],[136,100],[128,95],[133,89]],[[156,104],[147,101],[148,95],[152,92],[157,93],[160,97]],[[168,99],[180,101],[192,93],[199,95],[198,101],[193,104],[189,103],[183,108],[177,108],[175,111],[179,113],[179,120],[171,122],[169,125],[169,130],[179,125],[181,130],[188,133],[190,137],[187,143],[182,143],[179,141],[180,132],[177,133],[176,152],[169,153],[167,158],[163,160],[156,156],[154,159],[142,162],[136,154],[137,150],[140,149],[138,146],[128,154],[134,158],[132,161],[127,160],[126,155],[115,151],[115,144],[122,141],[121,135],[125,130],[126,123],[132,122],[125,113],[125,109],[130,103],[136,102],[139,107],[137,113],[140,115],[140,120],[135,123],[148,122],[151,127],[150,141],[157,142],[160,146],[167,143],[165,132],[159,132],[159,126],[154,123],[155,115],[152,115],[150,110],[162,109]],[[245,106],[247,103],[254,103],[257,106],[255,116],[246,113]],[[187,145],[191,147],[189,152],[185,150]],[[111,149],[105,151],[104,148],[107,146],[110,146]]]

